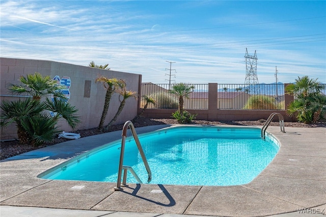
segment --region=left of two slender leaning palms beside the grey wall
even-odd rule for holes
[[[117,78],[107,78],[104,76],[99,76],[95,79],[96,82],[103,83],[104,88],[106,89],[105,94],[105,100],[104,100],[104,106],[103,106],[103,112],[100,119],[100,123],[98,125],[98,130],[101,130],[104,125],[104,121],[107,115],[108,107],[110,105],[110,100],[113,95],[113,93],[116,91],[117,88],[124,88],[126,86],[126,83],[123,79],[117,79]]]

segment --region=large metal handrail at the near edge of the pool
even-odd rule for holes
[[[150,168],[148,166],[148,162],[147,162],[146,156],[144,154],[142,145],[141,145],[141,143],[140,143],[140,141],[138,139],[137,132],[134,129],[134,126],[133,126],[132,122],[131,121],[126,121],[124,123],[123,129],[122,129],[122,141],[121,141],[121,150],[120,150],[120,161],[119,161],[119,170],[118,170],[118,180],[117,180],[117,186],[114,188],[115,191],[122,191],[123,188],[121,186],[123,186],[123,187],[128,186],[126,184],[126,181],[127,181],[127,170],[129,170],[131,172],[131,174],[134,176],[134,178],[139,183],[143,183],[141,181],[141,179],[139,178],[139,176],[134,172],[134,170],[132,169],[132,167],[130,167],[130,166],[123,166],[122,165],[123,164],[123,155],[124,155],[124,148],[125,148],[125,143],[126,143],[126,138],[127,138],[127,129],[128,129],[128,127],[131,130],[131,134],[133,136],[133,139],[136,142],[136,145],[138,147],[139,153],[141,154],[141,157],[143,159],[145,168],[147,170],[147,174],[148,174],[147,182],[150,182],[152,180],[152,172],[151,172],[151,170],[150,170]],[[123,180],[122,180],[122,185],[121,185],[122,170],[124,170],[124,172],[123,172]]]

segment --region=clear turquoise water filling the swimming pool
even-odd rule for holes
[[[139,135],[152,184],[239,185],[252,181],[279,147],[260,138],[259,128],[174,127]],[[121,140],[70,160],[42,178],[117,182]],[[147,172],[133,138],[123,165],[146,182]],[[128,172],[128,183],[137,183]]]

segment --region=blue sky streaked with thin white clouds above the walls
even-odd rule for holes
[[[1,57],[143,75],[143,82],[326,83],[326,1],[1,1]]]

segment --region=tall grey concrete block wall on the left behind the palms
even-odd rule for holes
[[[86,63],[88,64],[88,63]],[[106,90],[102,83],[95,83],[97,76],[102,75],[108,78],[124,79],[127,90],[139,92],[141,85],[141,75],[126,72],[103,70],[87,66],[79,66],[68,63],[60,63],[44,60],[26,60],[0,58],[0,97],[3,100],[18,100],[22,97],[12,97],[7,90],[8,84],[19,84],[19,77],[27,74],[39,72],[42,75],[49,75],[51,78],[58,75],[70,77],[71,86],[69,88],[69,103],[78,109],[77,115],[82,121],[74,129],[89,129],[97,127],[103,111],[103,104]],[[122,98],[120,97],[122,100]],[[137,115],[138,100],[129,98],[125,107],[115,124],[132,120]],[[114,93],[104,124],[107,124],[116,114],[120,105],[119,94]],[[71,131],[64,119],[59,121],[60,129]],[[8,126],[1,131],[1,140],[14,139],[16,137],[15,125]]]

